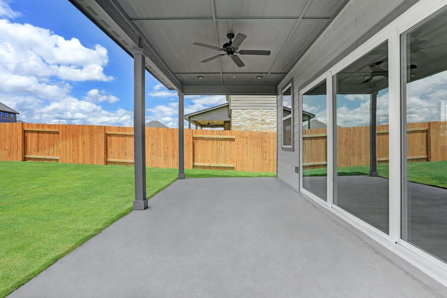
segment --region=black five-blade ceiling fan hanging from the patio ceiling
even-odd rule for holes
[[[243,67],[245,64],[240,60],[239,56],[236,56],[234,54],[240,54],[240,55],[263,55],[263,56],[269,56],[270,51],[264,51],[264,50],[239,50],[240,44],[244,41],[244,39],[247,37],[246,35],[242,33],[238,33],[236,37],[234,37],[233,33],[226,34],[226,37],[229,39],[227,43],[224,43],[222,48],[218,48],[215,46],[210,46],[206,44],[202,44],[200,42],[195,42],[193,45],[201,46],[205,48],[210,48],[218,51],[224,51],[224,54],[219,54],[216,56],[213,56],[211,58],[205,59],[204,61],[201,61],[202,63],[206,63],[209,61],[212,61],[214,59],[217,59],[222,56],[229,56],[233,60],[233,62],[237,65],[237,67]],[[233,39],[234,38],[234,39]]]

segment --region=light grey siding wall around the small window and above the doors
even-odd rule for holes
[[[410,8],[418,0],[351,0],[278,86],[278,178],[299,189],[299,90]],[[282,150],[281,89],[294,80],[294,152]]]

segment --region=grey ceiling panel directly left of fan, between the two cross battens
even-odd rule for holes
[[[193,45],[195,41],[216,44],[213,20],[145,20],[136,23],[174,73],[220,72],[219,63],[223,58],[207,63],[201,61],[223,52]]]

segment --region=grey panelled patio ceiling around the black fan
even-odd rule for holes
[[[167,88],[185,94],[276,94],[279,82],[348,0],[70,0],[127,52],[141,47],[146,68]],[[243,33],[234,67],[222,52],[227,33]],[[204,76],[198,79],[197,76]],[[256,76],[262,76],[257,79]]]

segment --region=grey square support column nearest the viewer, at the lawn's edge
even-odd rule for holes
[[[142,49],[134,49],[134,210],[148,208],[146,198],[146,142],[145,142],[145,56]]]

